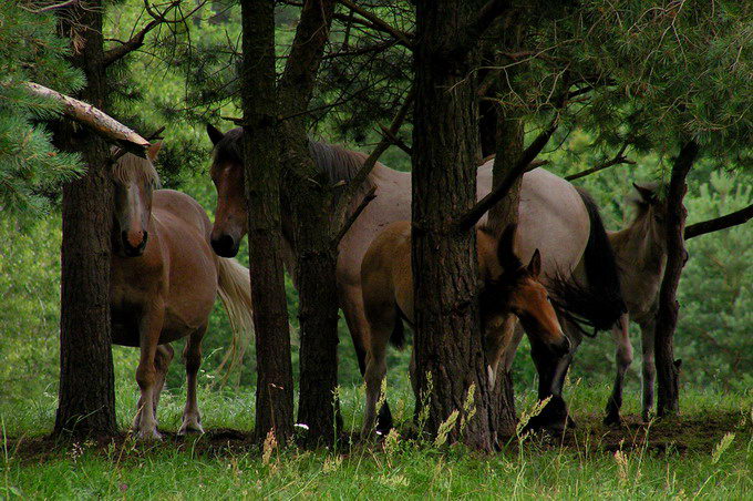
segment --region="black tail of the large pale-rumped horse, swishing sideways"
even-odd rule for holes
[[[553,298],[565,317],[581,330],[584,325],[592,327],[596,334],[596,330],[609,330],[628,308],[622,297],[615,250],[599,208],[586,191],[576,190],[586,205],[591,225],[582,256],[587,284],[579,284],[573,276],[565,278],[558,275],[551,280]]]

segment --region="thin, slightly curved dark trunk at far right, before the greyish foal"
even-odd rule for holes
[[[694,141],[682,145],[672,165],[672,177],[667,193],[667,267],[659,292],[659,311],[654,331],[659,417],[675,416],[680,411],[678,381],[681,360],[674,360],[674,330],[680,310],[677,289],[688,257],[683,239],[688,211],[682,200],[688,192],[685,178],[698,156],[698,151],[699,147]]]

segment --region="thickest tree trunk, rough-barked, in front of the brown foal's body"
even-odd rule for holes
[[[416,2],[413,129],[413,280],[416,415],[427,406],[425,431],[435,436],[461,412],[447,438],[491,450],[491,416],[478,317],[475,232],[458,232],[455,217],[476,198],[478,116],[476,58],[455,51],[477,2]],[[464,405],[474,388],[475,413]],[[462,423],[462,426],[461,426]]]

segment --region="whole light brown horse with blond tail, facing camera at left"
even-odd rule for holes
[[[159,439],[157,403],[173,359],[169,342],[188,337],[187,399],[179,434],[203,432],[196,402],[202,338],[219,293],[234,336],[250,331],[248,270],[209,247],[212,223],[188,195],[156,190],[159,178],[148,160],[132,154],[113,166],[115,214],[110,307],[113,342],[141,348],[136,381],[141,398],[133,428],[140,439]]]

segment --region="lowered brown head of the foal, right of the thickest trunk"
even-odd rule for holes
[[[482,293],[482,316],[506,310],[523,324],[532,342],[566,354],[570,341],[563,331],[547,289],[539,282],[541,254],[536,249],[528,265],[515,253],[517,225],[510,224],[497,243],[496,260],[502,273],[488,278]]]

